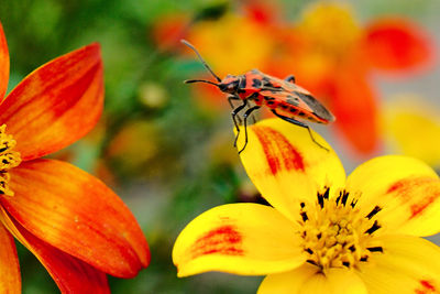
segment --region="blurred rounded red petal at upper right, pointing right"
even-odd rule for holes
[[[382,19],[366,28],[363,47],[370,64],[384,70],[411,69],[432,62],[432,44],[405,19]]]

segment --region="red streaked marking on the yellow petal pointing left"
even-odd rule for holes
[[[242,237],[234,226],[226,225],[208,231],[196,240],[191,248],[193,259],[219,253],[222,255],[242,255]]]

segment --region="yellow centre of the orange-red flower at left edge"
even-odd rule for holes
[[[16,142],[12,135],[6,133],[6,124],[0,127],[0,195],[13,196],[9,188],[11,176],[8,171],[21,163],[21,156],[20,152],[13,151]]]

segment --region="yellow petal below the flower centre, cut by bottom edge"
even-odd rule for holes
[[[330,269],[323,274],[318,266],[306,263],[294,271],[266,276],[257,293],[366,294],[367,291],[363,281],[354,271]]]

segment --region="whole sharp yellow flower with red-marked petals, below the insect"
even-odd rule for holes
[[[276,119],[249,128],[241,160],[272,207],[229,204],[194,219],[173,250],[178,276],[267,275],[258,293],[277,294],[440,290],[440,249],[419,238],[440,230],[440,181],[425,163],[381,156],[345,178],[333,151]]]

